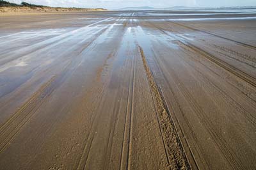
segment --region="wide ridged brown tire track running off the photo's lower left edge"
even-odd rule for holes
[[[104,31],[106,31],[106,29],[104,29]],[[97,37],[83,47],[83,49],[79,50],[77,56],[79,56],[86,48],[90,46],[93,48],[95,46],[95,44],[93,44],[95,40],[97,40]],[[20,132],[21,128],[28,123],[31,117],[36,113],[37,109],[39,109],[39,107],[45,102],[45,99],[51,95],[54,89],[60,86],[62,82],[67,79],[67,75],[74,72],[78,65],[79,59],[77,58],[73,61],[69,61],[67,66],[63,68],[59,75],[53,76],[49,82],[42,85],[35,95],[29,98],[28,102],[22,105],[22,107],[15,112],[15,114],[13,114],[13,116],[7,120],[2,127],[0,127],[0,153],[10,145],[10,142]]]

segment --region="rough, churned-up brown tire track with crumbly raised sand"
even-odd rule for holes
[[[156,114],[158,115],[157,118],[160,118],[159,126],[164,139],[164,148],[166,149],[166,153],[168,153],[167,156],[170,162],[170,169],[191,169],[188,158],[184,153],[182,143],[180,142],[177,129],[175,128],[175,125],[170,117],[170,111],[164,100],[161,88],[157,86],[156,82],[154,81],[154,75],[152,75],[152,72],[147,65],[147,59],[144,56],[143,49],[140,46],[139,49],[143,66],[147,74],[150,91],[152,91],[152,98],[156,107]]]

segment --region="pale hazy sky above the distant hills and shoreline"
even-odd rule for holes
[[[22,0],[10,0],[20,3]],[[99,8],[124,8],[127,6],[256,6],[256,0],[24,0],[28,3],[47,6],[76,6]]]

